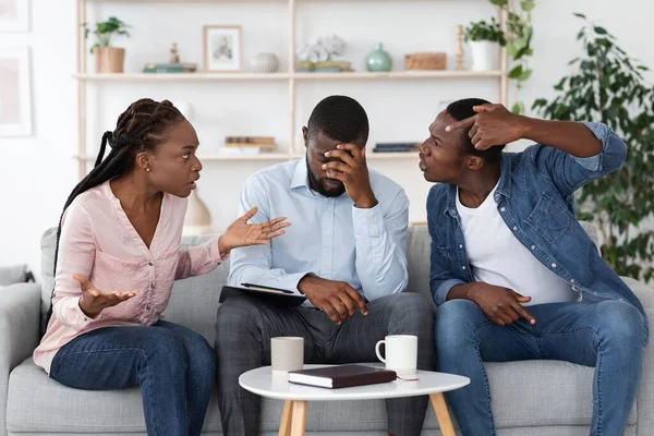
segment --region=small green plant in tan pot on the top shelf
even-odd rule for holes
[[[83,24],[84,36],[88,38],[92,31],[87,23]],[[96,73],[122,73],[125,49],[112,47],[109,45],[113,35],[130,36],[128,26],[116,16],[110,16],[105,22],[96,23],[93,34],[97,37],[97,43],[90,47],[90,52],[95,56]]]

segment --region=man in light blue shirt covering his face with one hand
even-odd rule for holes
[[[284,216],[291,226],[270,245],[232,250],[229,282],[283,288],[307,301],[290,307],[238,296],[220,306],[218,402],[227,435],[259,432],[259,399],[238,378],[270,364],[271,337],[303,337],[305,363],[340,364],[376,361],[375,344],[386,335],[415,335],[417,367],[435,365],[432,306],[402,293],[409,201],[397,183],[367,169],[364,109],[352,98],[328,97],[303,134],[303,159],[245,182],[240,209],[258,206],[253,222]],[[426,397],[388,400],[389,434],[420,435],[426,405]]]

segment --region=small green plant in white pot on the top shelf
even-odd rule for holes
[[[506,46],[504,32],[495,19],[470,23],[463,33],[472,51],[473,71],[497,70],[499,61],[498,45]]]

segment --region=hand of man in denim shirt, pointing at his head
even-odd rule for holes
[[[485,150],[506,145],[524,137],[529,118],[511,113],[502,105],[481,105],[472,108],[475,116],[448,125],[446,132],[470,129],[472,145]]]

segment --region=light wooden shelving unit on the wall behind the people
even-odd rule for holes
[[[507,105],[508,100],[508,68],[506,49],[498,50],[500,56],[500,70],[497,71],[392,71],[388,73],[298,73],[295,71],[295,11],[299,2],[310,2],[312,0],[277,0],[280,3],[288,3],[288,72],[283,73],[189,73],[189,74],[143,74],[143,73],[119,73],[119,74],[98,74],[89,73],[87,70],[87,44],[84,37],[82,23],[86,22],[86,9],[88,3],[100,2],[123,2],[123,3],[187,3],[184,0],[77,0],[77,73],[74,78],[77,81],[77,171],[78,177],[83,178],[87,172],[87,164],[95,160],[94,156],[87,156],[86,147],[86,87],[92,83],[199,83],[199,82],[286,82],[289,93],[289,134],[290,144],[284,153],[270,153],[259,155],[207,155],[199,156],[203,161],[283,161],[296,159],[303,156],[303,150],[296,147],[296,137],[299,132],[295,126],[295,105],[296,105],[296,85],[303,82],[337,82],[337,81],[436,81],[436,80],[488,80],[496,78],[498,82],[498,101]],[[194,0],[194,2],[216,3],[234,2],[238,0]],[[256,2],[257,0],[249,0]],[[340,0],[342,1],[342,0]],[[364,1],[364,0],[359,0]],[[426,1],[426,0],[425,0]],[[338,1],[335,0],[335,4]],[[505,28],[506,16],[498,8],[498,19],[502,28]],[[368,160],[402,160],[415,159],[415,153],[388,153],[388,154],[367,154]]]

